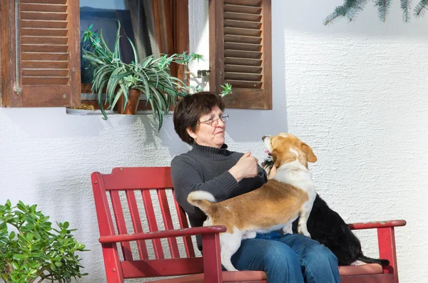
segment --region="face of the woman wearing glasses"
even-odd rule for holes
[[[212,148],[221,148],[225,143],[226,124],[220,118],[223,111],[215,106],[207,115],[199,118],[195,132],[189,127],[188,134],[195,139],[198,145],[210,146]]]

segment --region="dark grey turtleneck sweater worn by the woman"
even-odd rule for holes
[[[192,227],[203,226],[206,215],[198,207],[190,205],[188,194],[195,190],[205,190],[214,195],[218,202],[261,187],[267,181],[265,170],[258,165],[258,175],[237,182],[229,173],[243,153],[229,151],[228,145],[210,148],[193,143],[192,150],[175,156],[171,162],[175,199],[187,212]],[[201,250],[200,235],[196,237]]]

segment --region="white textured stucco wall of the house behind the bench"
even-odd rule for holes
[[[396,230],[400,282],[424,282],[428,19],[402,24],[394,3],[386,24],[368,7],[355,23],[325,27],[342,0],[272,2],[273,110],[229,110],[228,145],[263,159],[262,135],[302,138],[318,157],[318,192],[347,222],[407,220]],[[205,58],[207,5],[190,0],[190,49]],[[105,282],[90,174],[169,165],[188,150],[171,122],[158,133],[150,115],[104,121],[63,108],[0,108],[1,202],[36,203],[51,220],[71,222],[91,249],[81,282]],[[375,256],[374,233],[358,235]]]

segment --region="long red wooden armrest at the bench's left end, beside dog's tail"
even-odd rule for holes
[[[193,227],[186,229],[175,229],[175,230],[165,230],[165,231],[156,231],[156,232],[143,232],[135,234],[123,234],[123,235],[111,235],[111,236],[101,236],[99,242],[101,244],[108,244],[113,242],[129,242],[129,241],[138,241],[138,240],[152,240],[158,238],[168,238],[168,237],[183,237],[191,235],[204,235],[204,234],[215,234],[226,232],[225,226],[206,226],[206,227]]]

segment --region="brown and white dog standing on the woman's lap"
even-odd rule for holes
[[[188,202],[208,216],[204,226],[228,228],[220,234],[221,263],[228,271],[237,270],[230,258],[241,240],[253,238],[256,233],[279,229],[292,233],[292,222],[299,217],[298,232],[310,237],[306,222],[316,192],[307,163],[317,161],[317,157],[309,145],[287,133],[265,135],[263,142],[277,168],[265,185],[217,203],[210,192],[198,190],[188,195]]]

